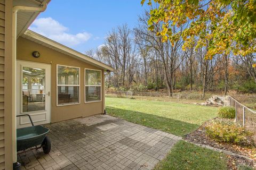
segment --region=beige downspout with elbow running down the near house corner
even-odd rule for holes
[[[17,145],[16,145],[16,48],[17,48],[17,12],[43,12],[46,10],[47,4],[42,4],[42,7],[30,6],[14,6],[12,10],[12,162],[13,169],[20,169],[20,163],[17,162]]]

